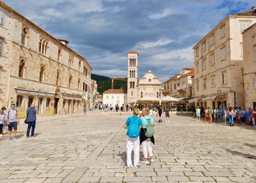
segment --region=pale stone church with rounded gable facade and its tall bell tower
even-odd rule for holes
[[[128,53],[127,101],[131,104],[146,96],[161,97],[162,91],[161,80],[151,70],[138,80],[138,56],[134,51]]]

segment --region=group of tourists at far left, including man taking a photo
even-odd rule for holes
[[[16,136],[18,125],[20,124],[19,111],[15,108],[15,104],[11,105],[9,110],[6,107],[0,109],[0,137],[4,136],[4,130],[8,131],[9,140],[18,139]],[[29,138],[30,129],[31,137],[35,137],[37,106],[33,104],[27,109],[27,118],[24,123],[28,124],[27,138]],[[13,130],[13,136],[12,136]]]

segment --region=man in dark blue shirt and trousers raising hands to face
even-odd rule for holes
[[[30,128],[31,130],[31,137],[35,137],[34,132],[36,128],[36,113],[37,113],[37,106],[31,104],[30,107],[27,109],[27,122],[28,122],[28,129],[27,129],[27,138],[29,137]]]

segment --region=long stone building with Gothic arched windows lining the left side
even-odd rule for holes
[[[0,106],[17,105],[26,116],[81,112],[91,91],[88,62],[23,15],[0,1]]]

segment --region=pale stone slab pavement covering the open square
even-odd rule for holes
[[[5,135],[0,140],[0,183],[256,182],[256,130],[252,127],[171,116],[171,123],[156,123],[154,163],[127,168],[126,118],[99,111],[86,117],[40,118],[37,137],[28,139],[27,125],[20,124],[19,139],[7,140]]]

